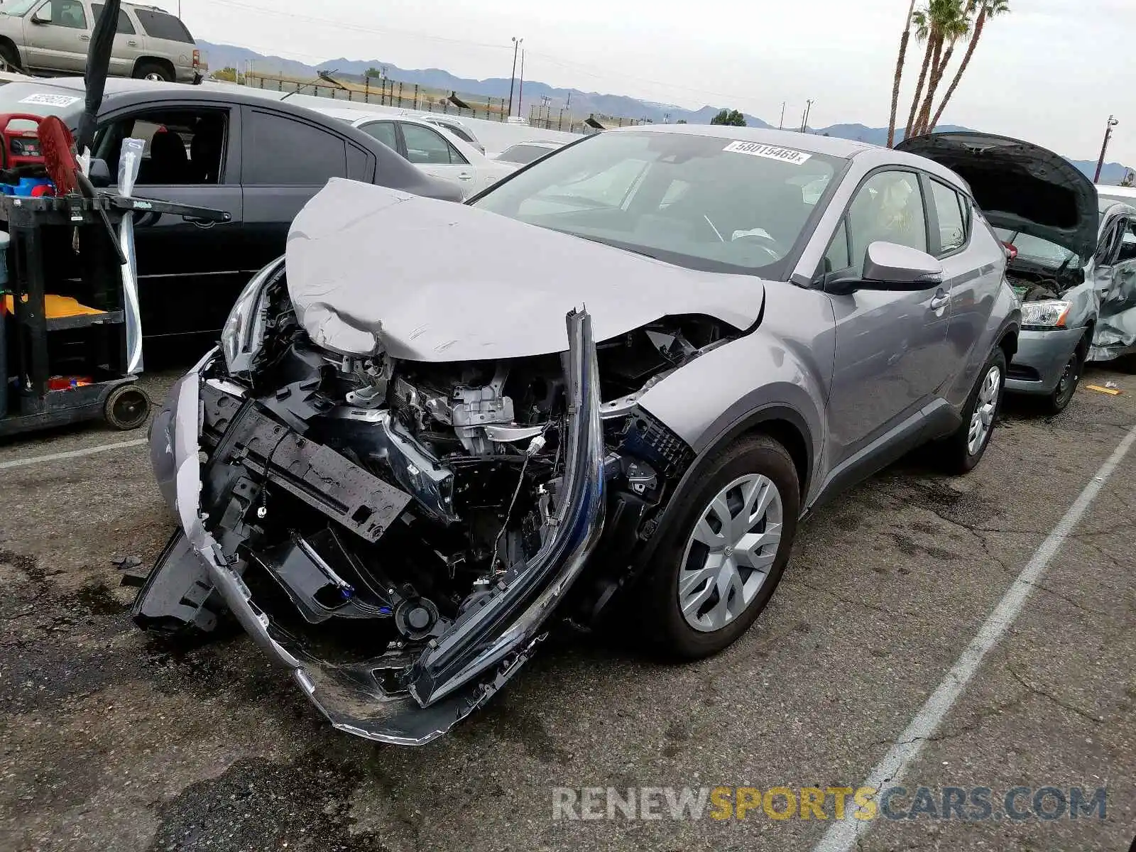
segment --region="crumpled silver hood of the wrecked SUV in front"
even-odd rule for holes
[[[765,287],[701,273],[465,204],[333,178],[292,223],[285,256],[300,323],[320,346],[416,361],[568,349],[565,315],[594,339],[680,314],[744,331]]]

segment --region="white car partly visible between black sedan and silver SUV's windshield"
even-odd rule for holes
[[[513,172],[508,164],[491,160],[463,139],[420,118],[344,108],[319,111],[377,139],[427,175],[458,184],[466,198]]]

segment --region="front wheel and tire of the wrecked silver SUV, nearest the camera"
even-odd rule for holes
[[[775,490],[771,498],[768,496],[770,486]],[[752,536],[775,533],[770,525],[777,523],[775,509],[779,508],[780,537],[757,546],[752,554],[762,570],[755,569],[750,558],[735,556],[730,544],[718,551],[699,541],[696,533],[736,543],[735,536],[745,532],[744,521],[743,526],[732,528],[719,521],[718,531],[712,528],[720,517],[715,511],[715,501],[724,490],[729,490],[727,500],[719,506],[736,517],[741,517],[741,509],[747,504],[747,492],[752,495],[750,502],[757,502],[759,509],[763,495],[768,499],[768,508],[761,517],[751,517],[753,526],[746,533],[751,545],[760,542]],[[676,494],[674,499],[680,501],[683,509],[662,532],[665,537],[655,550],[646,578],[649,605],[644,615],[649,619],[649,633],[660,651],[669,657],[696,660],[718,653],[745,633],[772,596],[793,549],[801,506],[800,484],[796,467],[785,448],[765,435],[753,435],[722,450],[692,486],[692,492]],[[742,552],[741,548],[736,550]],[[725,558],[718,560],[718,567],[709,562],[721,553]],[[728,586],[725,602],[717,591],[722,584]],[[746,595],[752,598],[745,601]],[[684,615],[680,598],[688,605],[690,615]],[[717,627],[716,621],[720,621]]]

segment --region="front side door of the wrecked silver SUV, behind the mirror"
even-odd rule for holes
[[[854,278],[870,243],[928,249],[922,190],[914,172],[880,170],[859,187],[829,245],[826,272]],[[829,395],[830,463],[869,452],[893,429],[918,424],[919,411],[945,379],[950,294],[855,290],[833,294],[836,358]],[[912,423],[908,423],[908,421]]]

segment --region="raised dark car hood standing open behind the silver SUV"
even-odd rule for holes
[[[968,132],[913,136],[895,148],[961,176],[994,227],[1047,240],[1076,252],[1081,262],[1093,256],[1096,187],[1064,157],[1029,142]]]

